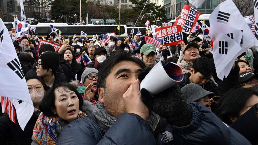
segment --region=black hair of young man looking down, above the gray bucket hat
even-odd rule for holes
[[[212,75],[211,60],[206,57],[200,57],[195,59],[192,68],[194,69],[194,73],[199,72],[206,78]]]

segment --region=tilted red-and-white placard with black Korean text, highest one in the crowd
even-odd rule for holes
[[[191,6],[184,5],[180,14],[181,18],[177,19],[173,26],[180,25],[182,32],[190,34],[200,14],[200,12],[193,9]]]

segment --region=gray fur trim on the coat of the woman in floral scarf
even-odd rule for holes
[[[93,112],[93,104],[90,101],[84,100],[83,101],[83,106],[80,109],[87,115],[94,114]],[[60,117],[57,117],[57,134],[59,136],[60,132],[62,129],[69,124],[69,122],[66,122],[65,120],[61,119]]]

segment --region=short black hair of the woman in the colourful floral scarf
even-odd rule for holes
[[[41,103],[39,104],[39,109],[46,115],[47,117],[55,115],[52,112],[52,109],[55,109],[55,90],[61,91],[60,88],[63,87],[65,92],[75,92],[77,98],[79,99],[79,110],[83,105],[83,99],[80,93],[75,89],[75,87],[69,83],[60,83],[58,85],[53,86],[50,88],[44,98],[42,99]]]

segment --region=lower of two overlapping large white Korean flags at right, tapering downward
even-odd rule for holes
[[[234,39],[232,39],[225,34],[224,31],[218,30],[214,26],[210,27],[216,72],[217,76],[223,80],[224,76],[228,76],[236,57],[238,57],[239,52],[242,50],[239,42],[243,33],[228,25],[221,27],[224,27],[223,30],[227,30],[226,33],[228,33],[229,36],[234,37]]]

